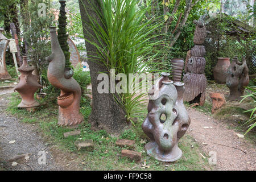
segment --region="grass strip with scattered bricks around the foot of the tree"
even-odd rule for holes
[[[58,107],[56,101],[47,102],[47,97],[40,101],[42,106],[34,112],[27,111],[26,109],[18,109],[16,106],[20,102],[20,97],[17,93],[11,94],[9,98],[9,107],[7,111],[10,114],[16,115],[20,118],[20,121],[26,123],[36,123],[39,126],[39,130],[42,131],[44,138],[47,142],[57,146],[58,149],[71,152],[76,155],[79,164],[77,166],[80,169],[86,170],[205,170],[210,169],[207,159],[203,159],[200,153],[198,143],[193,140],[189,135],[184,135],[180,139],[179,147],[183,151],[183,156],[174,163],[163,163],[151,158],[146,154],[144,150],[144,143],[141,142],[146,139],[146,135],[141,129],[143,118],[145,115],[138,117],[137,121],[134,122],[135,126],[127,128],[119,136],[122,139],[135,140],[134,148],[118,147],[115,145],[115,141],[118,137],[114,137],[106,133],[104,130],[93,131],[91,130],[90,123],[87,122],[90,114],[89,102],[82,106],[81,112],[84,115],[85,122],[79,126],[81,130],[80,135],[69,136],[64,138],[63,133],[72,131],[74,129],[68,129],[57,125],[57,111]],[[84,139],[93,139],[94,151],[80,151],[77,150],[75,142]],[[191,145],[194,147],[192,148]],[[121,151],[123,149],[134,150],[142,152],[142,164],[146,161],[146,165],[150,168],[142,169],[140,163],[131,161],[127,158],[121,158]],[[203,154],[207,156],[206,154]],[[168,167],[166,166],[168,165]],[[137,168],[132,169],[134,166]]]

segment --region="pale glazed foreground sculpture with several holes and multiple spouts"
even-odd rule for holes
[[[183,105],[184,84],[174,83],[168,75],[162,73],[150,89],[148,114],[142,123],[144,133],[150,138],[150,143],[145,145],[147,154],[162,162],[181,158],[182,151],[177,143],[190,124]]]

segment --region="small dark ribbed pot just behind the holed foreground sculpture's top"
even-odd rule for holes
[[[184,67],[184,61],[181,58],[174,58],[171,60],[172,64],[172,80],[174,82],[181,81],[182,71]]]

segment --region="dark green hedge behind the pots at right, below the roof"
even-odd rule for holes
[[[236,55],[240,60],[245,56],[249,74],[254,72],[251,60],[256,45],[255,34],[241,32],[232,23],[234,20],[231,16],[223,16],[221,19],[212,20],[207,25],[205,76],[209,80],[213,80],[213,68],[217,64],[218,57],[230,57],[230,61],[232,61]],[[226,34],[226,32],[234,30],[238,32],[236,36]]]

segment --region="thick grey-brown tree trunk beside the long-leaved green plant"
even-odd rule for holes
[[[95,18],[102,26],[100,18],[92,8],[93,6],[96,10],[100,10],[100,4],[97,0],[79,0],[79,6],[85,39],[100,45],[92,28],[88,26],[88,24],[90,24],[89,16]],[[125,110],[121,107],[121,105],[117,104],[114,99],[114,94],[98,93],[97,86],[98,83],[101,82],[97,80],[98,74],[100,72],[109,72],[105,65],[100,63],[100,61],[95,59],[92,60],[93,56],[97,56],[96,47],[86,41],[85,46],[89,58],[88,64],[90,68],[93,95],[92,113],[90,114],[89,122],[92,123],[94,129],[104,129],[108,133],[119,134],[123,128],[127,126]]]

